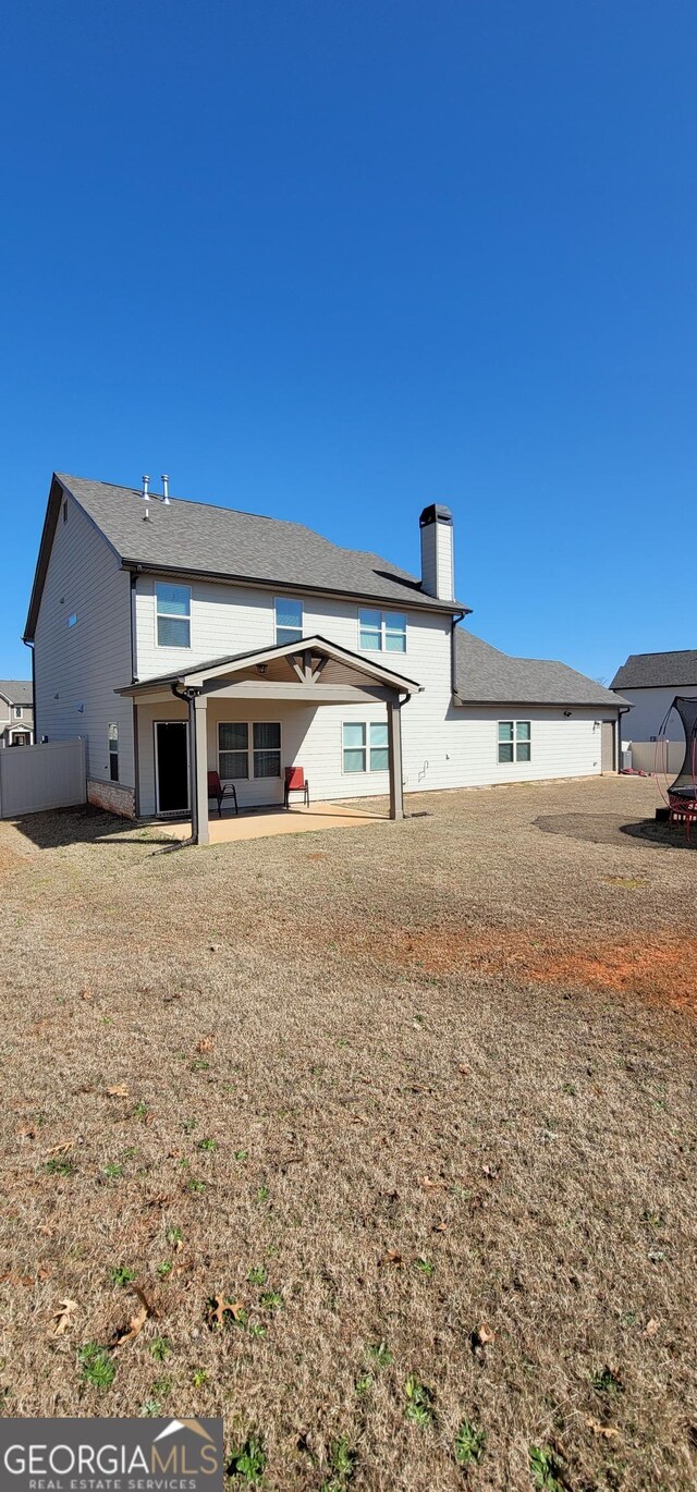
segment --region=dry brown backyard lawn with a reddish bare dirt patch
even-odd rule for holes
[[[657,801],[0,825],[3,1411],[222,1414],[282,1492],[697,1486],[697,849]]]

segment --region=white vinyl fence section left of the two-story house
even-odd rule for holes
[[[0,750],[0,819],[87,801],[85,742],[45,742]]]

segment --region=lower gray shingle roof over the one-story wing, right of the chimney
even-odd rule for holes
[[[481,637],[455,630],[455,692],[463,704],[591,704],[618,707],[610,689],[548,658],[510,658]]]

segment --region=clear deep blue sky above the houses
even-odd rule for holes
[[[54,468],[443,501],[496,646],[694,646],[696,73],[694,0],[9,0],[0,676]]]

